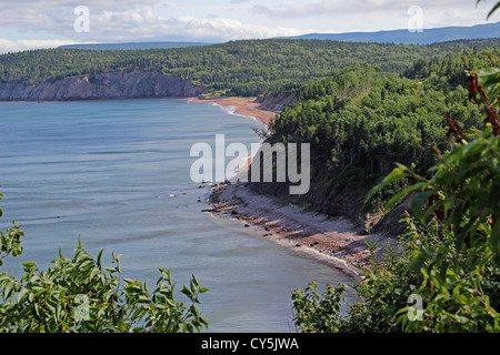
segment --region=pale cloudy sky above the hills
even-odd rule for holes
[[[0,0],[0,53],[74,43],[226,42],[500,21],[483,0]],[[500,12],[500,11],[498,11]]]

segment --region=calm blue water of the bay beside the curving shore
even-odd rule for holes
[[[46,268],[78,236],[93,255],[124,254],[123,274],[148,281],[172,268],[210,288],[208,332],[294,332],[290,288],[349,282],[320,262],[276,245],[236,221],[202,213],[209,191],[190,180],[190,149],[259,141],[259,123],[184,100],[0,103],[1,229],[16,219],[23,261]],[[176,197],[171,197],[174,195]],[[103,258],[104,260],[104,258]]]

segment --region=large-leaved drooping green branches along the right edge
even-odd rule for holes
[[[498,75],[497,80],[491,75]],[[481,71],[479,78],[478,82],[494,87],[500,72]],[[496,92],[496,88],[486,87],[481,92]],[[498,105],[497,98],[492,99]],[[497,109],[489,100],[486,105],[487,125],[498,126]],[[488,129],[470,143],[461,140],[434,166],[431,179],[406,166],[386,179],[413,176],[418,182],[411,190],[419,191],[413,199],[414,214],[422,225],[429,219],[440,223],[439,244],[419,248],[409,263],[423,275],[418,292],[427,307],[422,322],[400,316],[406,331],[500,332],[499,154],[500,135]]]

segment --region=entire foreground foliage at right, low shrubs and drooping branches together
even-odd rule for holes
[[[307,331],[500,332],[500,71],[462,69],[469,100],[483,108],[486,130],[467,141],[462,126],[448,115],[448,135],[456,144],[443,154],[434,146],[429,174],[414,163],[398,163],[370,191],[368,199],[400,181],[412,182],[393,194],[386,209],[413,194],[414,217],[404,216],[400,247],[381,262],[372,258],[363,280],[353,285],[363,302],[351,305],[346,317],[338,314],[346,303],[339,295],[343,286],[323,295],[309,290],[312,304],[296,291],[296,322]],[[442,84],[452,85],[448,80]],[[416,308],[408,297],[413,295],[423,301],[420,318],[410,317]],[[329,317],[323,310],[333,312]],[[321,322],[313,322],[318,312]]]

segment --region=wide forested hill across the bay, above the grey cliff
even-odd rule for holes
[[[290,93],[340,69],[369,63],[400,73],[422,59],[500,48],[500,39],[431,45],[322,40],[246,40],[179,49],[34,50],[0,55],[0,82],[37,85],[76,77],[153,71],[208,88],[211,94]]]

